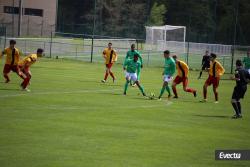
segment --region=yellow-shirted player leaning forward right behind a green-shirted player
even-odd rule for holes
[[[188,72],[189,72],[188,65],[185,62],[183,62],[181,60],[178,60],[176,55],[174,55],[173,58],[175,60],[176,69],[178,71],[178,74],[175,77],[175,79],[173,81],[173,84],[172,84],[172,89],[173,89],[173,92],[174,92],[174,98],[178,98],[176,85],[180,84],[181,82],[183,84],[183,90],[185,92],[193,93],[194,97],[196,97],[196,90],[192,89],[192,88],[187,88],[187,85],[188,85]]]

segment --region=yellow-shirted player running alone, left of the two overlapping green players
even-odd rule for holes
[[[108,47],[104,49],[103,51],[103,58],[105,59],[105,65],[106,65],[106,71],[105,71],[105,76],[104,79],[102,80],[103,83],[107,81],[108,75],[110,74],[113,82],[115,82],[115,75],[111,71],[111,68],[113,64],[117,61],[117,53],[116,51],[112,48],[112,43],[108,43]]]

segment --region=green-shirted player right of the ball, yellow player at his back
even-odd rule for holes
[[[161,99],[163,93],[165,92],[165,89],[168,92],[168,97],[171,97],[171,92],[169,88],[169,82],[173,79],[173,75],[175,73],[175,61],[172,57],[170,57],[170,52],[169,50],[164,51],[164,58],[165,58],[165,66],[164,66],[164,71],[162,73],[163,75],[163,85],[161,88],[161,92],[159,95],[159,99]]]

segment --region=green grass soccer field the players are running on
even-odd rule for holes
[[[1,62],[1,69],[3,62]],[[250,161],[216,161],[215,150],[250,149],[250,93],[242,100],[243,119],[233,120],[234,81],[221,80],[219,103],[212,87],[200,103],[207,78],[191,72],[190,87],[179,99],[148,100],[125,83],[102,84],[104,64],[46,59],[31,67],[31,92],[20,90],[11,74],[0,83],[1,167],[211,167],[250,166]],[[146,93],[159,94],[161,68],[143,68]],[[227,78],[228,76],[224,76]]]

